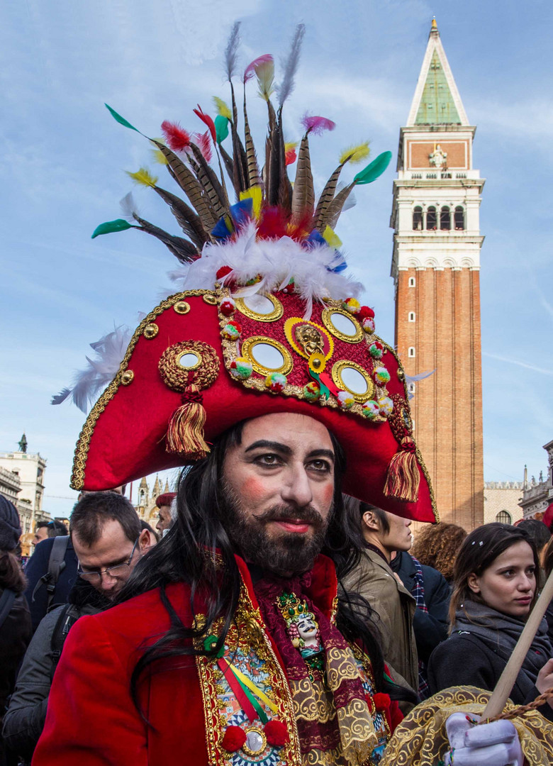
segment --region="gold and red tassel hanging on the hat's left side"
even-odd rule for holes
[[[204,440],[205,409],[198,386],[188,385],[181,406],[173,412],[165,437],[167,452],[201,460],[209,452]]]

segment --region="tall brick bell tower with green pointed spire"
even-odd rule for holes
[[[484,179],[436,21],[400,130],[391,227],[395,342],[414,398],[414,434],[440,519],[483,523],[479,230]]]

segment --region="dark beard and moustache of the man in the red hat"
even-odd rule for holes
[[[279,577],[303,575],[309,571],[315,558],[322,550],[329,521],[325,521],[312,506],[272,506],[253,519],[247,519],[241,502],[225,483],[226,517],[224,527],[237,552],[248,564],[255,564],[264,571]],[[332,509],[331,509],[332,513]],[[309,522],[314,534],[306,537],[298,532],[282,532],[280,535],[267,533],[267,522],[281,519]],[[330,513],[329,513],[330,518]]]

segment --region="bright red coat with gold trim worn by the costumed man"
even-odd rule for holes
[[[259,621],[260,615],[255,611],[257,600],[249,571],[241,559],[237,558],[237,562],[245,585],[247,630],[252,617]],[[332,561],[319,556],[309,596],[327,615],[332,612],[336,588]],[[182,622],[190,625],[193,616],[188,586],[169,585],[167,594]],[[263,630],[262,623],[260,627]],[[154,663],[151,676],[140,686],[140,703],[149,726],[137,712],[130,694],[133,668],[143,647],[155,643],[167,630],[169,614],[159,590],[103,614],[80,618],[67,637],[54,676],[33,766],[215,766],[214,760],[229,763],[227,754],[226,758],[218,755],[221,732],[214,716],[220,715],[221,705],[218,708],[216,682],[209,676],[211,660],[178,656]],[[292,732],[290,747],[284,748],[286,760],[278,758],[276,762],[296,766],[301,761],[290,690],[278,650],[268,638],[273,650],[271,684],[279,700],[279,717]],[[387,718],[392,729],[401,720],[397,703],[392,702]]]

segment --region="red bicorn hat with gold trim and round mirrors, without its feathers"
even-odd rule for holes
[[[436,520],[412,435],[405,375],[355,300],[314,303],[284,290],[234,299],[189,290],[134,332],[75,450],[74,489],[106,489],[193,463],[227,428],[305,414],[345,450],[344,491],[400,516]]]

